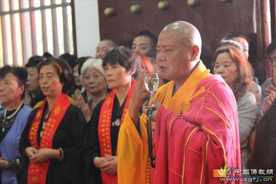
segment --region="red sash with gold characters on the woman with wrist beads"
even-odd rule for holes
[[[38,109],[35,119],[29,130],[29,141],[32,147],[36,149],[41,148],[52,148],[53,145],[53,137],[55,132],[63,119],[65,112],[67,111],[68,107],[70,106],[70,101],[65,94],[61,94],[50,114],[50,117],[45,125],[43,130],[40,145],[38,146],[37,136],[38,136],[38,128],[41,122],[43,109],[45,105],[46,99],[42,103],[41,107]],[[50,159],[44,161],[42,163],[34,163],[30,162],[28,167],[28,184],[45,184],[47,171],[50,164]]]

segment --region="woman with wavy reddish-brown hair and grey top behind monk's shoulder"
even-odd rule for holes
[[[219,74],[232,89],[238,109],[242,168],[250,154],[248,138],[256,121],[256,98],[252,92],[252,67],[233,46],[223,46],[213,56],[214,74]]]

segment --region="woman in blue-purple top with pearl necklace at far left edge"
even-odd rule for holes
[[[17,183],[19,140],[32,109],[23,103],[27,70],[5,66],[0,69],[0,183]]]

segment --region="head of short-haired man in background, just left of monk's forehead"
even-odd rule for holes
[[[136,35],[132,42],[132,51],[146,55],[156,47],[157,38],[149,31],[142,31]]]

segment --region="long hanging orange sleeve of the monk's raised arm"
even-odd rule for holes
[[[118,137],[118,183],[146,183],[148,163],[146,115],[140,116],[141,136],[128,111]],[[127,160],[127,161],[126,161]]]

